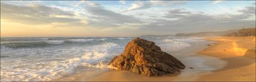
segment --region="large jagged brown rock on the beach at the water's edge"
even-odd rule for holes
[[[154,42],[140,38],[130,41],[123,53],[115,56],[108,66],[146,76],[172,74],[185,68],[180,60],[161,51]]]

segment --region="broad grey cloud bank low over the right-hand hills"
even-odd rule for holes
[[[243,10],[248,10],[248,8]],[[155,19],[154,23],[145,25],[142,29],[145,31],[172,31],[173,33],[169,34],[176,34],[180,32],[215,31],[216,29],[228,30],[255,26],[255,20],[245,20],[250,18],[252,14],[248,15],[245,13],[209,15],[192,13],[186,11],[184,8],[178,8],[169,10],[168,14],[164,17],[175,17],[175,15],[179,19]]]

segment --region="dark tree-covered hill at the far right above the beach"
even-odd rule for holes
[[[248,37],[248,36],[255,36],[255,28],[248,28],[248,29],[240,29],[237,32],[233,32],[231,34],[227,34],[226,36],[229,37]]]

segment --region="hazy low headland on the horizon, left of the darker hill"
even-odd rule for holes
[[[216,31],[216,32],[197,32],[190,34],[176,34],[175,37],[220,37],[227,34],[237,32],[238,30],[229,30],[229,31]]]

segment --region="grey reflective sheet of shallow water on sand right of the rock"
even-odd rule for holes
[[[193,81],[200,75],[210,74],[212,71],[221,69],[226,61],[210,56],[188,56],[180,59],[187,66],[175,81]],[[184,78],[185,77],[185,78]]]

